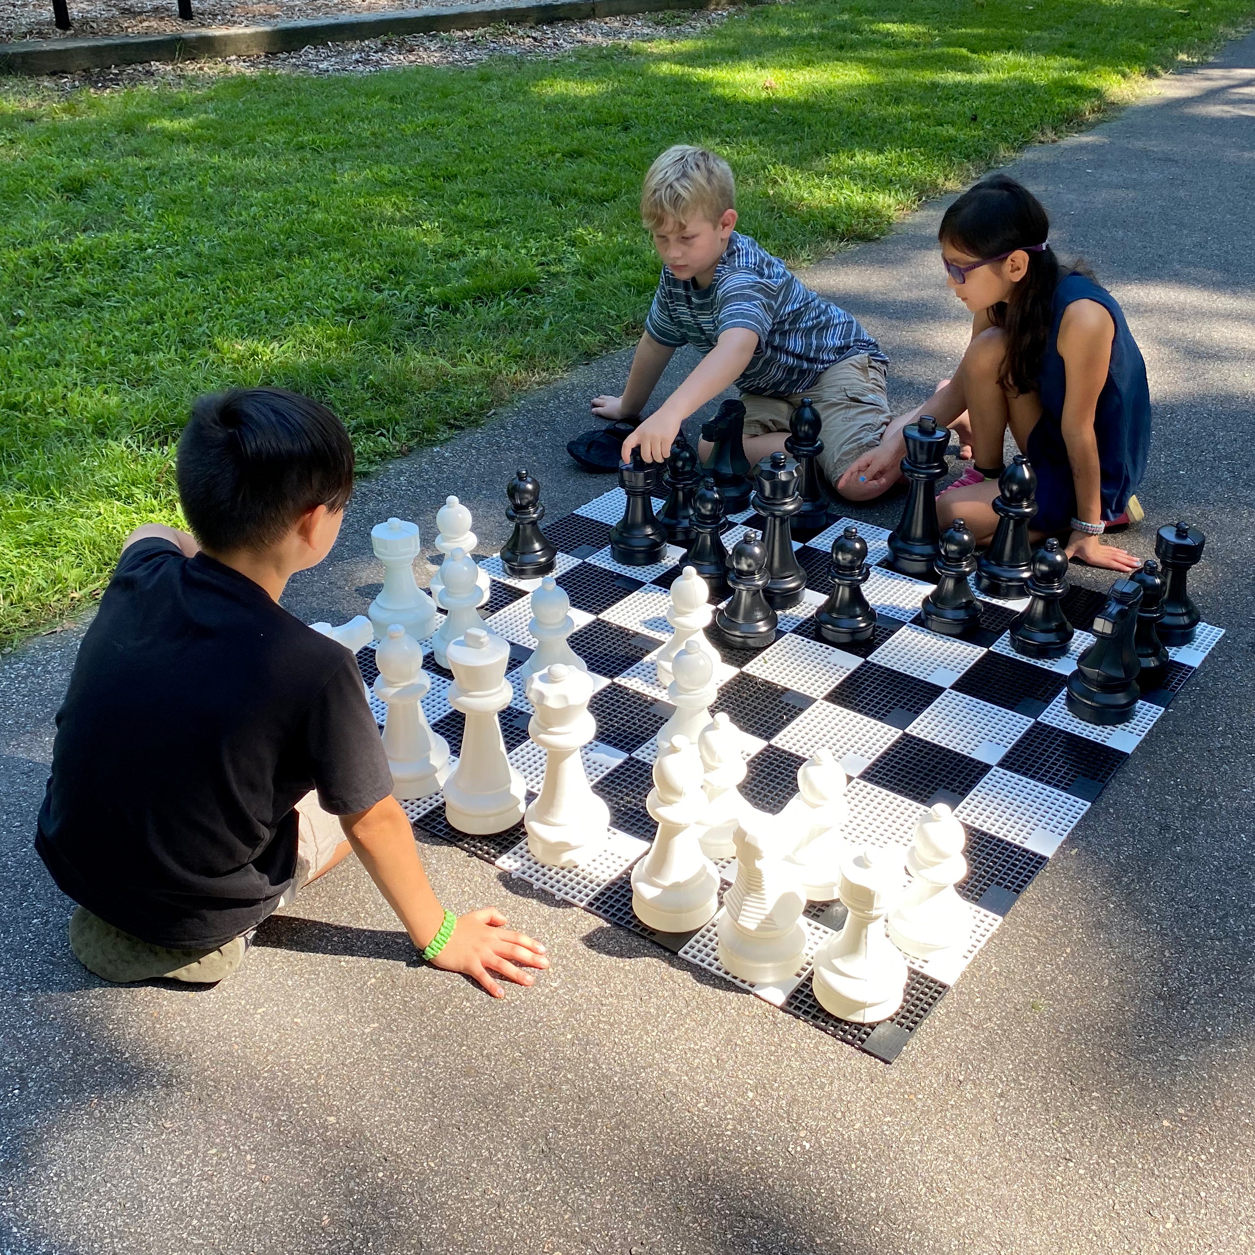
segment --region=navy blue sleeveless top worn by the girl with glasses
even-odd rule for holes
[[[1042,417],[1028,438],[1024,453],[1038,477],[1038,515],[1034,526],[1052,531],[1067,527],[1076,513],[1076,489],[1068,448],[1063,442],[1063,395],[1067,390],[1063,358],[1059,356],[1059,324],[1073,301],[1094,301],[1116,324],[1107,383],[1098,394],[1094,435],[1102,467],[1102,512],[1104,520],[1119,517],[1146,471],[1151,447],[1151,393],[1146,363],[1128,330],[1116,297],[1087,275],[1071,274],[1054,290],[1050,339],[1042,356],[1038,395]]]

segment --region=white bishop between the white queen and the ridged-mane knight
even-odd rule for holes
[[[688,737],[669,740],[654,759],[654,787],[645,799],[658,836],[631,870],[631,909],[646,927],[688,932],[719,910],[719,873],[698,845],[694,823],[707,799],[702,759]]]

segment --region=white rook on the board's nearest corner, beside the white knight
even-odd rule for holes
[[[845,927],[814,956],[818,1004],[838,1019],[875,1024],[902,1005],[906,959],[885,931],[885,916],[901,895],[901,853],[861,850],[841,868]]]

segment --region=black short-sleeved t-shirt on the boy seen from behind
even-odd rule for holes
[[[343,645],[238,571],[142,540],[83,638],[35,848],[115,927],[213,948],[291,884],[305,793],[354,814],[392,787]]]

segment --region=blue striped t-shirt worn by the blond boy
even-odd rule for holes
[[[659,344],[709,353],[733,326],[758,348],[737,387],[759,397],[804,392],[828,366],[857,353],[887,364],[880,345],[843,309],[812,292],[749,236],[732,232],[709,287],[664,266],[645,330]]]

